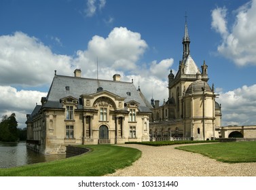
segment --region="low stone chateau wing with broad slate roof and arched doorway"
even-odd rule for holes
[[[47,97],[27,115],[27,147],[65,153],[67,145],[149,141],[151,104],[132,82],[54,75]]]

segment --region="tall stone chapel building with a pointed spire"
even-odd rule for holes
[[[190,54],[187,22],[183,37],[183,57],[176,75],[168,75],[168,100],[160,106],[151,99],[153,115],[150,134],[153,138],[191,138],[210,140],[221,132],[221,106],[215,101],[214,86],[208,85],[208,66],[204,61],[201,71]]]

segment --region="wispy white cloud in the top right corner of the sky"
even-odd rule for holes
[[[217,50],[239,66],[256,65],[256,0],[249,1],[234,11],[236,21],[227,29],[227,9],[217,7],[212,11],[212,28],[221,35]]]

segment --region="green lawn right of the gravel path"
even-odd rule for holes
[[[256,162],[256,142],[221,142],[208,145],[191,145],[177,147],[183,151],[191,151],[206,155],[217,161],[228,163]]]

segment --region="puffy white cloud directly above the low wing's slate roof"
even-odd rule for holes
[[[84,71],[96,67],[110,67],[113,70],[131,71],[136,69],[136,62],[147,48],[147,43],[139,33],[124,27],[115,28],[107,38],[95,35],[88,43],[86,51],[77,51],[76,64]],[[84,64],[87,62],[87,64]],[[90,75],[90,73],[87,73]]]

